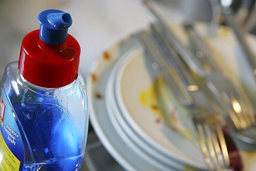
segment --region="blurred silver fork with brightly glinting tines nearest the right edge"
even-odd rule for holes
[[[250,129],[256,126],[256,119],[251,104],[246,103],[247,99],[245,100],[245,97],[242,99],[241,93],[237,90],[235,85],[220,73],[218,65],[215,64],[214,60],[211,58],[210,48],[203,42],[203,39],[196,33],[191,34],[191,31],[194,31],[193,27],[187,27],[187,30],[189,28],[188,34],[191,40],[193,40],[193,44],[198,48],[198,51],[205,54],[204,58],[197,58],[188,48],[185,48],[185,46],[179,42],[173,32],[165,25],[161,17],[159,17],[150,6],[149,1],[145,1],[145,5],[159,22],[159,27],[155,27],[155,32],[158,31],[159,35],[162,35],[162,37],[164,35],[162,39],[166,39],[166,44],[171,45],[188,66],[196,72],[199,77],[205,79],[203,81],[206,84],[206,86],[204,86],[204,92],[214,99],[231,118],[229,125],[233,124],[235,126],[236,137],[246,143],[256,144],[256,135],[248,133],[251,131]],[[210,66],[211,69],[207,70],[204,66]]]

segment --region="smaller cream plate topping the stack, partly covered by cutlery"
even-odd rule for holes
[[[109,102],[111,108],[116,109],[114,117],[116,117],[126,134],[136,144],[139,144],[140,148],[148,148],[145,150],[151,152],[151,155],[157,156],[155,158],[166,165],[175,165],[170,161],[175,160],[175,163],[180,161],[190,166],[203,167],[204,161],[199,147],[195,143],[184,139],[177,132],[172,131],[163,121],[156,123],[159,116],[139,101],[141,90],[150,86],[157,75],[154,69],[148,68],[151,67],[150,65],[148,66],[150,62],[145,57],[143,49],[140,47],[129,55],[122,56],[118,61],[119,63],[114,67],[109,79],[110,84],[107,85],[107,97],[111,97],[107,102]],[[151,71],[149,72],[148,69],[151,69]],[[133,73],[125,72],[125,70],[130,70]],[[125,77],[123,76],[124,74]],[[134,81],[134,74],[137,76],[137,80],[142,80],[142,82]],[[116,80],[113,78],[115,76],[117,76]],[[129,81],[124,81],[124,85],[128,88],[124,92],[131,98],[128,101],[132,102],[131,110],[129,111],[127,111],[124,103],[122,103],[124,100],[118,91],[121,86],[121,78],[131,78],[130,83]],[[134,119],[134,116],[137,118]],[[113,116],[110,116],[110,120],[111,118]],[[124,134],[120,133],[120,136],[122,137]],[[201,162],[201,165],[198,164],[199,162],[196,163],[195,156],[196,159],[201,159],[201,161],[198,160]]]

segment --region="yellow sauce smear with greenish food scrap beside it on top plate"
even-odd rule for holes
[[[161,98],[159,99],[159,97]],[[192,125],[190,125],[189,119],[185,118],[187,116],[185,111],[177,108],[177,104],[172,98],[161,76],[156,77],[153,85],[143,88],[139,96],[140,103],[146,105],[157,115],[156,124],[165,123],[173,131],[179,132],[186,139],[195,142],[195,136],[191,131]]]

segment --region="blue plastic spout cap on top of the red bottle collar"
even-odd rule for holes
[[[69,13],[60,10],[45,10],[39,13],[39,37],[50,45],[60,45],[66,41],[68,28],[72,25]]]

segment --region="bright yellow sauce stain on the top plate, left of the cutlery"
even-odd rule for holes
[[[156,93],[153,85],[142,89],[139,98],[140,98],[141,104],[146,105],[157,116],[161,118],[163,117],[161,110],[158,107],[158,103],[156,100]]]

